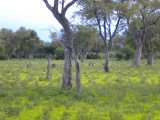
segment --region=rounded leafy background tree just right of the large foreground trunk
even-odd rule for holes
[[[98,31],[91,26],[77,25],[74,27],[75,39],[74,49],[80,55],[81,62],[85,62],[87,55],[98,38]]]

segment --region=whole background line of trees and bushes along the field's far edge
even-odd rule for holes
[[[79,58],[82,62],[85,59],[105,59],[105,45],[98,35],[98,30],[91,26],[72,26],[75,32],[74,49],[79,50]],[[49,29],[50,30],[50,29]],[[36,31],[20,27],[16,32],[3,28],[0,30],[0,59],[29,59],[47,58],[64,59],[64,30],[52,32],[50,30],[51,43],[40,40]],[[126,29],[123,34],[114,37],[111,58],[117,60],[129,60],[135,56],[136,45],[133,42],[131,33]],[[160,41],[154,41],[155,57],[160,57]],[[147,45],[143,48],[142,58],[148,57]]]

